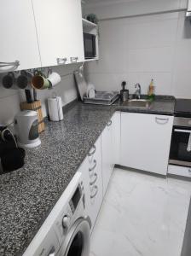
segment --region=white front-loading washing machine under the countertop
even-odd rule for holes
[[[89,256],[90,218],[84,183],[77,172],[23,256]]]

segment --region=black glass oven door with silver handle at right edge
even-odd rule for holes
[[[190,127],[173,127],[169,163],[176,166],[191,166]]]

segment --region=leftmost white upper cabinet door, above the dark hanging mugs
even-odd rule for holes
[[[0,8],[0,62],[20,61],[0,71],[41,67],[32,0],[2,0]]]

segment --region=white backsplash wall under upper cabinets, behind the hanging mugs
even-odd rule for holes
[[[47,115],[47,98],[52,96],[55,92],[61,96],[63,105],[76,99],[77,92],[75,81],[73,78],[73,71],[77,69],[80,64],[72,64],[67,66],[54,67],[55,72],[60,73],[61,83],[57,84],[53,90],[38,90],[38,99],[43,105],[43,115]],[[9,124],[13,121],[14,115],[20,111],[20,102],[26,102],[26,97],[20,90],[6,90],[3,88],[0,76],[0,125]]]

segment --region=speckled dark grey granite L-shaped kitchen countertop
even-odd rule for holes
[[[46,121],[38,148],[26,150],[26,165],[0,176],[0,255],[22,255],[70,183],[116,110],[174,113],[173,98],[159,98],[150,109],[74,102],[61,122]]]

